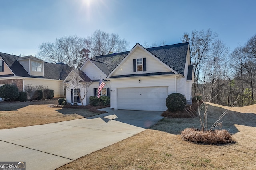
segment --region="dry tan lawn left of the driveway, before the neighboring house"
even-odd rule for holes
[[[0,129],[56,123],[100,114],[88,109],[50,108],[49,104],[58,104],[58,99],[0,102]]]

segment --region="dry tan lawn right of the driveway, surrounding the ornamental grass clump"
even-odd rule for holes
[[[255,106],[246,109],[246,113],[230,111],[223,119],[222,128],[233,134],[235,144],[188,143],[181,139],[180,132],[187,127],[200,128],[199,118],[164,118],[151,129],[88,154],[58,170],[256,169]],[[222,107],[209,106],[209,126],[223,111]]]

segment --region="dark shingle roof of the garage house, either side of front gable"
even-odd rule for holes
[[[184,75],[188,45],[188,42],[186,42],[173,45],[164,45],[160,47],[146,48],[146,50],[179,74]],[[106,63],[109,72],[112,72],[116,68],[116,66],[118,66],[118,64],[126,57],[126,55],[128,55],[128,53],[130,53],[130,51],[100,55],[94,57],[93,60]],[[100,65],[98,67],[100,68]]]

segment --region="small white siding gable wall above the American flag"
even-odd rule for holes
[[[81,71],[83,71],[91,80],[99,80],[100,76],[103,79],[106,78],[106,75],[90,61],[85,63]]]

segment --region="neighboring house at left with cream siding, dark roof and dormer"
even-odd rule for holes
[[[54,97],[63,97],[62,81],[71,70],[64,63],[47,63],[31,55],[0,53],[0,86],[15,84],[19,91],[24,91],[26,85],[43,85],[54,90]]]

